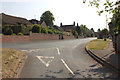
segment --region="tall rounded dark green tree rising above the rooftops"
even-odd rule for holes
[[[52,27],[53,24],[54,24],[53,21],[55,21],[55,18],[54,18],[53,14],[50,11],[45,11],[42,14],[42,16],[40,17],[40,21],[41,21],[41,23],[43,21],[45,21],[47,26],[51,26]]]

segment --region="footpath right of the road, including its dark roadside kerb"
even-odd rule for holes
[[[112,41],[109,42],[108,48],[105,50],[87,49],[88,54],[97,62],[114,70],[120,76],[120,54],[116,54]]]

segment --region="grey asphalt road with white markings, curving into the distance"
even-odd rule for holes
[[[86,53],[85,46],[93,39],[4,43],[2,47],[26,52],[27,59],[20,78],[115,77]]]

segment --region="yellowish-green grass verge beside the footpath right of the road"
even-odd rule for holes
[[[95,39],[88,43],[88,49],[106,49],[108,47],[109,39],[104,41],[104,39]]]

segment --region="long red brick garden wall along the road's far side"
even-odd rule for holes
[[[74,36],[63,36],[64,39],[75,39]],[[2,35],[2,42],[27,42],[33,40],[59,40],[58,34],[30,33],[24,35]]]

